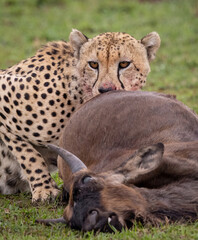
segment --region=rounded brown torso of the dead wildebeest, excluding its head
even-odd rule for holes
[[[182,161],[184,165],[197,165],[197,115],[171,96],[121,91],[96,97],[76,112],[65,128],[60,146],[78,156],[90,170],[100,173],[116,169],[135,150],[158,142],[165,144],[164,157],[168,161],[177,154],[176,164]],[[69,191],[71,172],[60,159],[58,164]],[[170,175],[172,166],[173,163]],[[174,168],[173,178],[177,178],[175,171],[182,174],[183,168]],[[167,171],[162,172],[160,179],[157,177],[146,186],[169,181]]]

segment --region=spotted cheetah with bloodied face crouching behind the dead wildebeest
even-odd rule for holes
[[[50,172],[72,114],[111,90],[138,90],[160,46],[158,33],[141,40],[108,32],[88,39],[72,30],[69,41],[50,42],[33,57],[0,70],[0,192],[31,191],[32,201],[59,193]]]

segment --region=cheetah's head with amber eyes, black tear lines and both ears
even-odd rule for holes
[[[78,30],[70,34],[82,88],[91,97],[110,90],[138,90],[150,72],[149,62],[160,47],[158,33],[141,40],[120,32],[88,39]],[[90,97],[89,96],[89,97]]]

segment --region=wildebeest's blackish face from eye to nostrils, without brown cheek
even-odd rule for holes
[[[103,205],[104,189],[104,179],[92,172],[81,171],[74,176],[69,204],[64,212],[64,218],[71,228],[110,232],[110,223],[121,230],[118,216]]]

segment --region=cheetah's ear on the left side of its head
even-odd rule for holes
[[[77,29],[72,29],[72,32],[70,33],[69,36],[69,41],[74,49],[74,56],[78,58],[80,48],[84,43],[88,41],[88,38]]]

